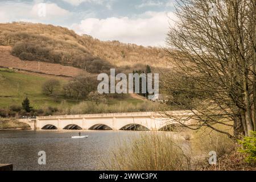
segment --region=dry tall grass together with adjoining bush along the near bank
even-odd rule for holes
[[[210,151],[216,151],[218,159],[229,155],[234,147],[232,139],[209,129],[148,131],[117,143],[104,164],[110,170],[200,170],[209,166]]]

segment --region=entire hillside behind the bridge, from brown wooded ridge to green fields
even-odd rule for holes
[[[27,96],[35,114],[42,109],[44,115],[152,111],[159,104],[137,94],[110,94],[95,104],[89,97],[94,88],[89,77],[110,68],[116,73],[144,72],[146,65],[152,72],[167,70],[164,60],[160,48],[101,42],[46,24],[0,24],[0,110],[5,115],[6,109],[20,107]],[[52,78],[60,82],[59,90],[47,95],[42,86]]]

